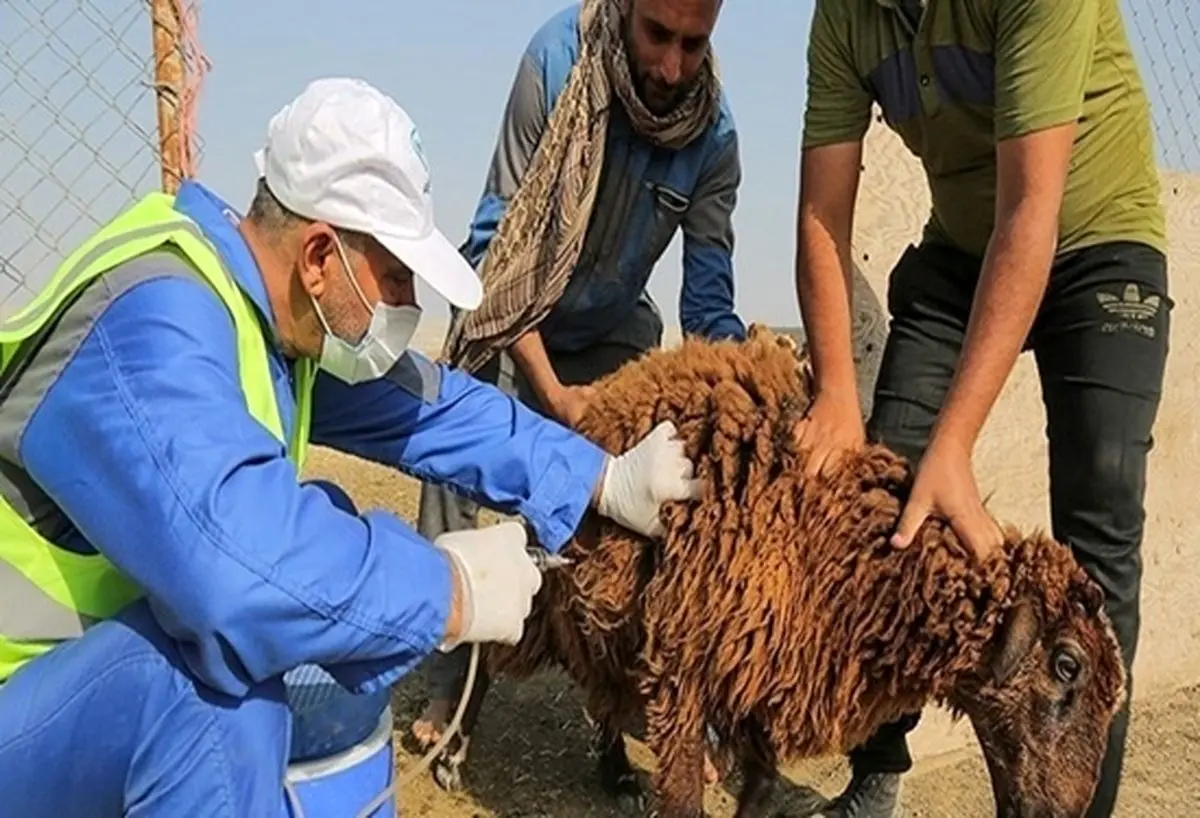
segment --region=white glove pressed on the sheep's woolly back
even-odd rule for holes
[[[664,421],[636,446],[608,462],[596,511],[648,537],[664,533],[664,503],[695,500],[700,481],[683,452],[674,423]]]

